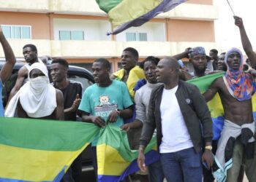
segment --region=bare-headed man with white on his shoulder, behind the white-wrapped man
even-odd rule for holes
[[[23,55],[27,64],[22,66],[18,71],[18,78],[16,80],[15,86],[12,88],[12,91],[10,92],[8,99],[9,101],[12,99],[15,93],[17,93],[18,90],[20,90],[20,87],[23,85],[25,79],[28,77],[29,66],[31,66],[33,63],[42,62],[37,58],[37,47],[35,47],[33,44],[26,44],[23,47]]]

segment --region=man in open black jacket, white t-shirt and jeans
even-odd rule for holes
[[[163,85],[151,92],[138,165],[146,170],[144,149],[157,128],[157,148],[167,181],[201,182],[202,161],[208,168],[213,163],[211,114],[198,88],[178,79],[178,68],[177,60],[170,57],[157,65],[157,82]]]

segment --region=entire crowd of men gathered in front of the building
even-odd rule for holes
[[[67,79],[69,64],[62,58],[50,64],[50,83],[45,61],[38,58],[37,47],[26,44],[26,64],[0,116],[56,119],[83,122],[98,127],[113,124],[127,132],[131,149],[138,150],[140,171],[130,175],[140,181],[212,182],[256,181],[255,121],[252,95],[255,92],[256,53],[246,35],[241,17],[234,17],[248,57],[232,48],[218,55],[203,47],[161,60],[148,56],[138,63],[139,53],[127,47],[121,54],[122,68],[110,75],[110,62],[94,60],[95,84],[83,92],[82,84]],[[0,72],[0,92],[12,74],[15,55],[0,28],[0,42],[6,63]],[[193,71],[184,65],[189,59]],[[48,58],[47,58],[48,59]],[[46,61],[47,62],[47,61]],[[246,66],[244,66],[246,64]],[[223,73],[203,94],[189,79]],[[219,94],[224,108],[224,127],[219,140],[212,140],[213,127],[207,102]],[[47,100],[47,101],[46,101]],[[145,165],[144,151],[152,136],[157,138],[159,160]],[[93,164],[97,176],[97,141],[92,141]],[[75,159],[61,181],[80,181],[81,155]]]

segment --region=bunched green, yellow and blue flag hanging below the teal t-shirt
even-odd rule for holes
[[[119,127],[107,125],[97,143],[98,181],[114,182],[139,170],[138,151],[129,148],[127,134]],[[146,148],[146,165],[159,159],[157,138],[153,137]]]

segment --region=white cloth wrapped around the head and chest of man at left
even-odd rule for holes
[[[30,74],[34,69],[39,69],[45,76],[31,79]],[[55,110],[56,89],[50,84],[46,66],[43,63],[33,63],[29,67],[28,77],[29,82],[26,82],[10,100],[5,116],[14,116],[18,100],[26,114],[32,118],[50,116]]]

